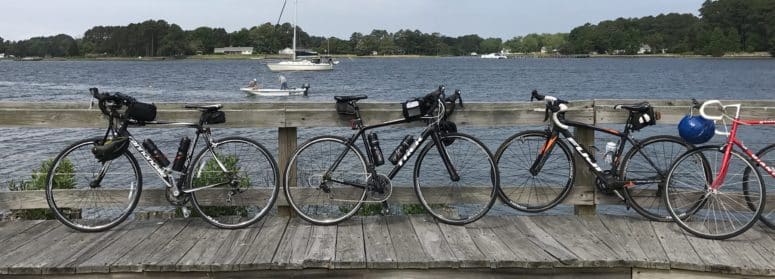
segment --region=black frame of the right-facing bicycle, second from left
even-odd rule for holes
[[[444,111],[444,105],[443,102],[441,103],[440,111]],[[377,129],[381,127],[396,125],[396,124],[402,124],[402,123],[408,123],[410,120],[406,119],[397,119],[397,120],[391,120],[387,121],[381,124],[371,125],[371,126],[363,126],[363,120],[361,119],[360,111],[358,107],[355,107],[355,119],[353,119],[354,126],[358,129],[358,132],[353,134],[347,141],[350,145],[355,145],[355,142],[358,140],[358,138],[361,138],[363,141],[364,146],[366,146],[366,157],[368,160],[368,164],[366,165],[367,171],[369,175],[372,177],[376,177],[379,175],[376,170],[376,166],[374,164],[374,158],[371,154],[369,149],[369,142],[366,138],[366,131]],[[420,136],[415,139],[414,142],[407,148],[404,155],[399,159],[398,163],[393,167],[393,169],[390,171],[390,173],[387,175],[389,179],[395,178],[395,176],[398,174],[398,172],[403,168],[403,166],[406,164],[406,162],[414,155],[415,152],[417,152],[418,147],[421,146],[429,137],[433,142],[436,144],[436,148],[439,151],[439,154],[441,155],[442,161],[444,162],[445,167],[447,168],[447,171],[449,172],[450,179],[453,181],[460,180],[460,176],[457,173],[457,170],[455,170],[454,166],[452,166],[452,162],[449,159],[449,154],[447,154],[447,150],[444,148],[444,144],[441,141],[441,137],[439,135],[437,123],[431,123],[430,125],[426,126],[425,129],[420,133]],[[350,149],[348,147],[345,147],[342,153],[337,157],[337,159],[334,161],[334,163],[331,165],[331,167],[328,168],[326,173],[323,175],[323,177],[328,178],[330,181],[341,183],[344,185],[349,185],[357,188],[364,189],[367,187],[367,185],[361,185],[357,183],[353,183],[350,181],[339,181],[331,179],[331,172],[333,172],[338,166],[339,163],[342,162],[342,159],[347,155],[347,152],[349,152]]]

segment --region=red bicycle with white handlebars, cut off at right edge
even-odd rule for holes
[[[721,114],[707,114],[705,110],[709,105],[718,105]],[[727,113],[728,108],[736,109],[734,117]],[[704,118],[721,121],[722,124],[726,124],[727,120],[732,122],[731,130],[715,131],[717,135],[726,136],[726,142],[686,152],[675,161],[668,173],[667,191],[664,193],[668,212],[672,216],[686,216],[674,220],[684,230],[702,238],[727,239],[750,229],[763,216],[767,193],[761,173],[755,166],[775,177],[775,170],[737,138],[740,125],[775,125],[775,121],[741,120],[740,108],[740,104],[705,101],[700,107]],[[766,155],[771,150],[771,146],[767,147],[760,155]],[[690,206],[685,208],[685,205]],[[772,218],[775,214],[770,209],[762,220],[772,226]]]

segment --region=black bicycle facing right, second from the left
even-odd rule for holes
[[[418,150],[413,184],[427,212],[441,222],[462,225],[489,211],[499,179],[492,154],[478,139],[456,129],[449,131],[454,124],[446,121],[456,100],[462,106],[459,90],[447,98],[439,87],[423,98],[404,102],[404,118],[371,126],[364,125],[357,105],[366,98],[335,96],[337,111],[353,118],[352,129],[357,131],[350,138],[313,137],[291,155],[283,181],[288,203],[298,216],[316,225],[332,225],[354,215],[364,203],[382,203],[383,213],[388,213],[391,180]],[[450,111],[445,100],[452,103]],[[404,138],[388,158],[395,165],[388,175],[378,173],[376,167],[384,158],[376,134],[367,132],[416,120],[426,120],[427,126],[416,139]],[[366,152],[355,145],[359,138]]]

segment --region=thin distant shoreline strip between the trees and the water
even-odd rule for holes
[[[354,54],[330,55],[337,59],[379,59],[379,58],[448,58],[478,56],[434,56],[434,55],[369,55],[358,56]],[[773,59],[767,52],[730,53],[720,57],[695,54],[636,54],[636,55],[610,55],[610,54],[579,54],[579,55],[554,55],[554,54],[508,54],[509,59],[595,59],[595,58],[684,58],[684,59]],[[176,61],[176,60],[278,60],[288,59],[288,56],[277,54],[266,55],[191,55],[178,57],[44,57],[42,61]],[[5,58],[4,60],[14,60]],[[36,61],[39,61],[36,60]]]

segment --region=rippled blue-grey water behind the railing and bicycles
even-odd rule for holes
[[[408,58],[343,59],[330,72],[284,73],[291,86],[311,85],[309,97],[265,98],[239,91],[253,78],[265,87],[279,87],[277,73],[263,61],[0,61],[0,101],[90,101],[89,87],[120,91],[144,102],[326,102],[334,95],[367,94],[368,101],[401,102],[445,84],[463,90],[466,102],[527,101],[532,89],[568,100],[622,99],[772,99],[775,60],[733,59],[510,59]],[[228,116],[227,116],[228,117]],[[615,125],[613,127],[620,127]],[[491,150],[509,135],[526,129],[465,129],[481,137]],[[648,130],[648,131],[647,131]],[[170,156],[185,129],[135,129],[138,139],[152,137]],[[644,129],[672,133],[673,127]],[[0,128],[0,188],[9,180],[29,179],[40,162],[78,138],[99,135],[99,129]],[[301,129],[300,141],[331,129]],[[349,134],[347,129],[336,133]],[[274,129],[228,129],[226,134],[254,138],[276,152]],[[406,134],[380,135],[383,152]],[[158,138],[158,140],[157,140]],[[763,144],[766,139],[757,143]],[[604,146],[604,140],[601,148]],[[758,145],[752,145],[756,148]],[[275,153],[276,156],[276,153]],[[408,166],[411,168],[412,166]],[[383,167],[384,168],[384,167]],[[411,172],[404,170],[403,172]],[[144,173],[150,174],[147,169]],[[399,174],[399,177],[409,174]],[[147,185],[155,178],[146,175]]]

